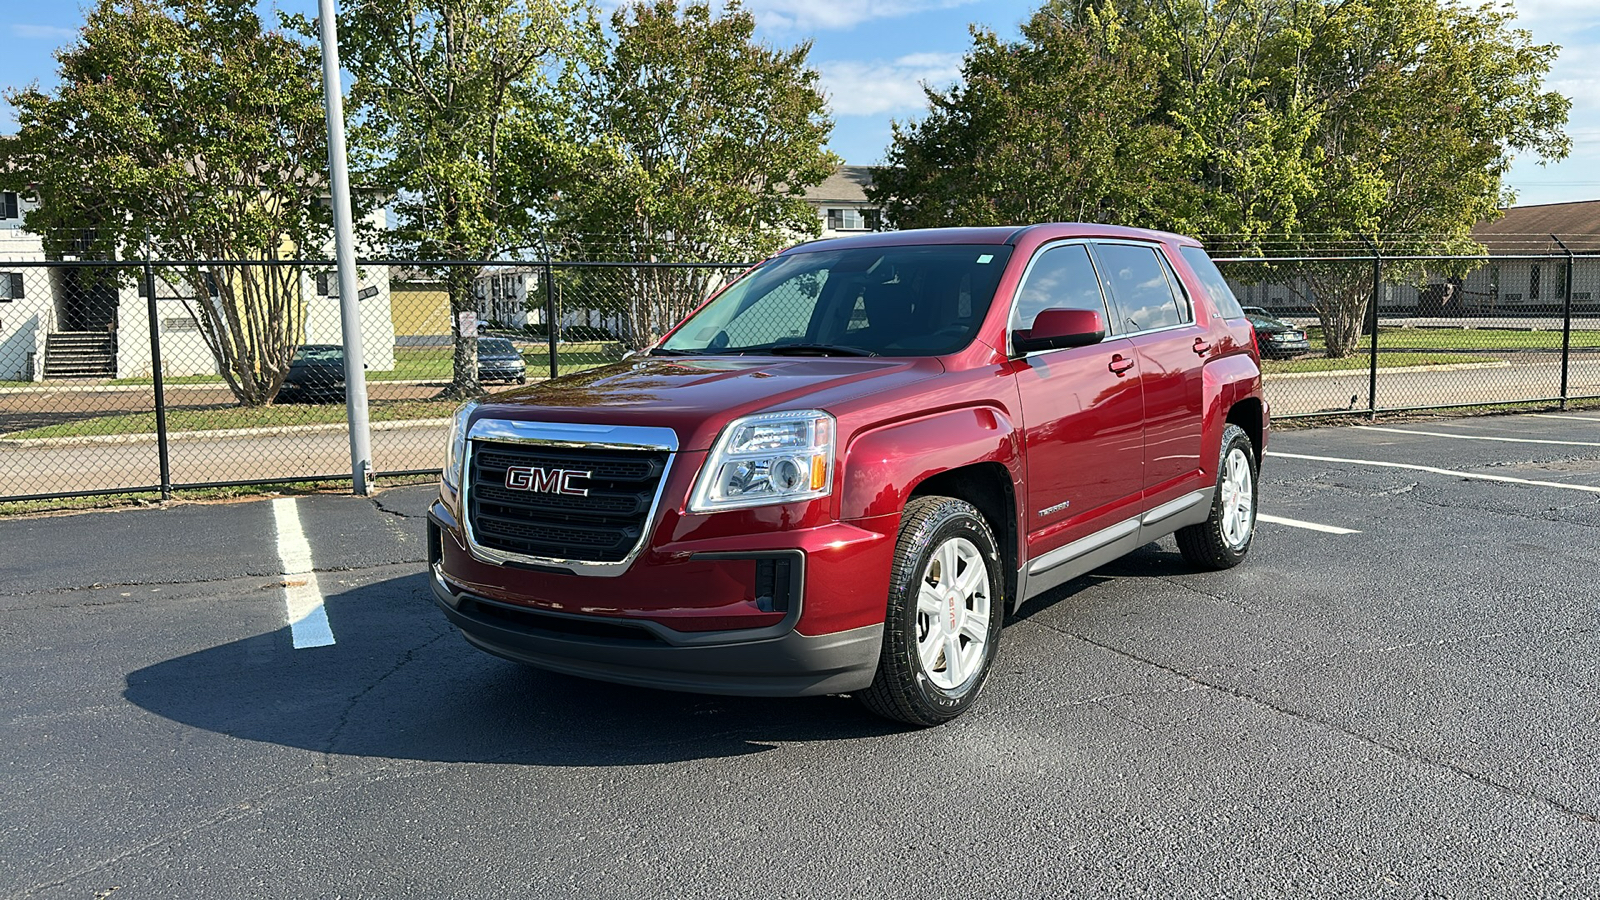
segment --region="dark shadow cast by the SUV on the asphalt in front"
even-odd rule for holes
[[[243,740],[437,762],[642,765],[906,730],[843,697],[675,693],[509,663],[467,645],[422,573],[326,609],[334,645],[296,650],[280,628],[130,673],[123,697]]]

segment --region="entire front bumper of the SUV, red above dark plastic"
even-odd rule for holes
[[[883,533],[835,522],[744,535],[739,546],[669,540],[621,575],[598,578],[477,559],[438,501],[429,532],[434,601],[469,642],[498,657],[600,681],[757,697],[861,690],[877,671],[893,552]]]

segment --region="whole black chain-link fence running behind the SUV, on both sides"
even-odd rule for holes
[[[1218,263],[1277,416],[1600,397],[1597,255]],[[462,396],[619,360],[744,267],[362,263],[376,474],[437,471]],[[838,343],[954,327],[963,283],[862,285]],[[0,500],[349,479],[341,335],[330,263],[0,261]]]

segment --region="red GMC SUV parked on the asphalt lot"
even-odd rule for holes
[[[462,407],[432,585],[510,660],[931,725],[1022,601],[1173,533],[1238,564],[1266,439],[1250,322],[1195,240],[821,240],[642,356]]]

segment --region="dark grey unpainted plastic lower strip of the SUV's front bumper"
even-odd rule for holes
[[[696,693],[803,697],[872,684],[883,626],[816,637],[787,631],[760,641],[739,633],[696,634],[669,644],[645,629],[597,617],[554,617],[456,593],[438,564],[429,565],[434,601],[475,647],[544,669]]]

